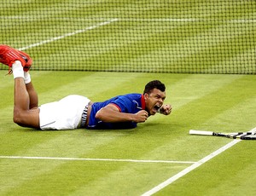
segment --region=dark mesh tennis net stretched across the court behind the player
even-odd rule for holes
[[[256,74],[255,0],[3,0],[33,70]],[[5,66],[0,66],[5,69]]]

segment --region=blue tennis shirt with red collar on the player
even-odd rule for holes
[[[145,100],[143,94],[127,94],[115,96],[107,101],[95,102],[91,105],[88,129],[132,129],[137,127],[137,123],[134,122],[122,122],[122,123],[105,123],[99,119],[96,119],[96,112],[102,107],[106,107],[108,104],[114,104],[119,108],[119,112],[125,113],[137,113],[140,110],[145,109]]]

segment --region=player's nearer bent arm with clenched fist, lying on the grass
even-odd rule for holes
[[[119,107],[114,104],[108,104],[96,112],[96,118],[106,123],[119,123],[119,122],[135,122],[143,123],[148,118],[148,112],[141,110],[137,113],[120,112]]]

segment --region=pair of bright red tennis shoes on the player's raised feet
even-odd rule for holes
[[[28,72],[32,66],[32,59],[25,52],[13,49],[8,45],[0,45],[0,62],[11,68],[15,61],[21,62],[24,72]]]

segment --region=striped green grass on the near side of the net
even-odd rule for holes
[[[0,72],[4,74],[5,71]],[[21,128],[12,122],[13,78],[4,76],[0,101],[1,156],[199,161],[230,139],[192,136],[190,129],[246,131],[255,127],[254,76],[125,73],[120,77],[115,72],[35,71],[31,74],[40,104],[68,94],[102,101],[113,95],[141,92],[148,80],[160,78],[166,84],[166,102],[172,103],[173,112],[168,117],[151,117],[135,130]],[[253,195],[253,149],[254,141],[241,141],[156,195],[243,195],[243,187],[247,187],[247,195]],[[0,195],[140,195],[189,165],[0,159]]]

